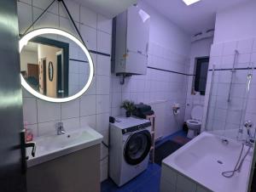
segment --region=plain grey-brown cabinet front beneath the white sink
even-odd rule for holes
[[[28,192],[99,192],[100,144],[28,167]]]

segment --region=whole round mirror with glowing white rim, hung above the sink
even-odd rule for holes
[[[94,65],[88,49],[66,31],[44,28],[20,39],[21,84],[50,102],[81,96],[92,82]]]

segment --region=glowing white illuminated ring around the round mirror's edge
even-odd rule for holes
[[[38,93],[26,82],[26,80],[20,73],[21,85],[23,86],[23,88],[26,88],[26,90],[29,93],[32,93],[32,95],[34,95],[38,99],[43,99],[43,100],[49,101],[49,102],[63,103],[63,102],[68,102],[73,99],[79,98],[88,90],[88,88],[90,87],[90,84],[92,82],[93,76],[94,76],[94,64],[93,64],[93,60],[90,56],[88,48],[86,48],[86,46],[83,44],[83,42],[80,42],[77,37],[74,37],[73,35],[71,35],[70,33],[66,32],[66,31],[62,31],[60,29],[55,29],[55,28],[40,28],[40,29],[37,29],[34,31],[30,31],[26,35],[24,35],[23,37],[20,38],[20,42],[19,42],[20,53],[21,53],[22,48],[24,46],[26,46],[27,42],[29,42],[33,37],[37,37],[37,36],[44,35],[44,34],[55,34],[55,35],[67,37],[70,40],[72,40],[73,42],[76,42],[79,45],[79,47],[82,48],[82,50],[84,51],[84,54],[86,55],[86,57],[88,59],[88,63],[90,65],[90,74],[89,74],[88,82],[86,82],[84,88],[82,88],[78,93],[75,93],[74,95],[72,95],[70,97],[60,98],[60,99],[50,98],[48,96],[45,96],[44,94]]]

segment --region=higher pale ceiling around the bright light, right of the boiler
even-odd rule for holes
[[[218,10],[229,8],[237,3],[250,0],[201,0],[199,3],[187,6],[183,0],[143,0],[184,31],[195,35],[201,31],[214,28],[215,16]]]

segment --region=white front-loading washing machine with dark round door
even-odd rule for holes
[[[109,177],[121,186],[148,167],[151,122],[137,117],[115,119],[110,123]]]

